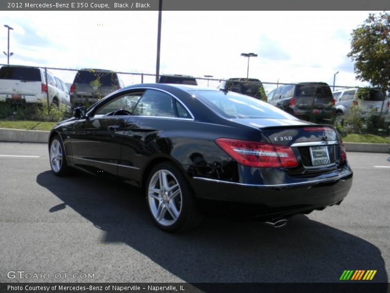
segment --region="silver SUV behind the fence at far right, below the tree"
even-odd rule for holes
[[[352,105],[359,106],[361,117],[367,119],[370,115],[383,117],[390,124],[390,99],[376,88],[345,88],[335,90],[336,122],[343,124],[344,115],[349,113]]]

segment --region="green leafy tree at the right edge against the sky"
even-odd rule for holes
[[[357,79],[384,91],[390,89],[390,14],[369,14],[351,33],[351,52]]]

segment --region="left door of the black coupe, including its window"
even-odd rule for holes
[[[124,129],[141,94],[118,94],[98,105],[73,128],[74,164],[92,173],[117,176]],[[104,173],[104,174],[102,174]]]

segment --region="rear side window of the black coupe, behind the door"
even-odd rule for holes
[[[139,100],[133,115],[176,117],[173,98],[164,92],[148,89]]]

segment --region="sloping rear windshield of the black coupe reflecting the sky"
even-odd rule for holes
[[[249,96],[225,91],[196,91],[195,96],[215,113],[229,119],[270,118],[295,119],[268,103]]]

